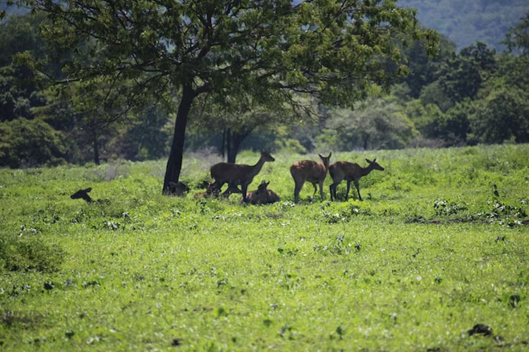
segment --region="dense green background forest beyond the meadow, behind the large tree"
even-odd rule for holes
[[[39,11],[0,23],[0,165],[165,158],[175,118],[167,100],[180,93],[131,108],[118,89],[109,96],[104,82],[46,84],[35,72],[64,78],[73,69],[61,63],[75,56],[57,54],[58,44],[42,36],[46,23]],[[203,99],[190,111],[185,150],[221,153],[233,162],[242,149],[307,153],[529,142],[528,27],[529,13],[506,29],[501,53],[482,42],[457,48],[443,35],[431,58],[424,39],[401,43],[406,77],[371,84],[346,108],[313,103],[316,113],[308,119],[257,104],[219,108]]]

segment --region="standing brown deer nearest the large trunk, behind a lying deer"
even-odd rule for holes
[[[241,184],[243,199],[246,200],[248,184],[252,183],[253,177],[261,171],[262,165],[265,165],[266,161],[275,160],[269,152],[262,151],[261,157],[255,165],[218,163],[213,165],[209,170],[211,177],[215,180],[214,184],[217,189],[220,190],[225,183],[228,183],[232,189]]]

